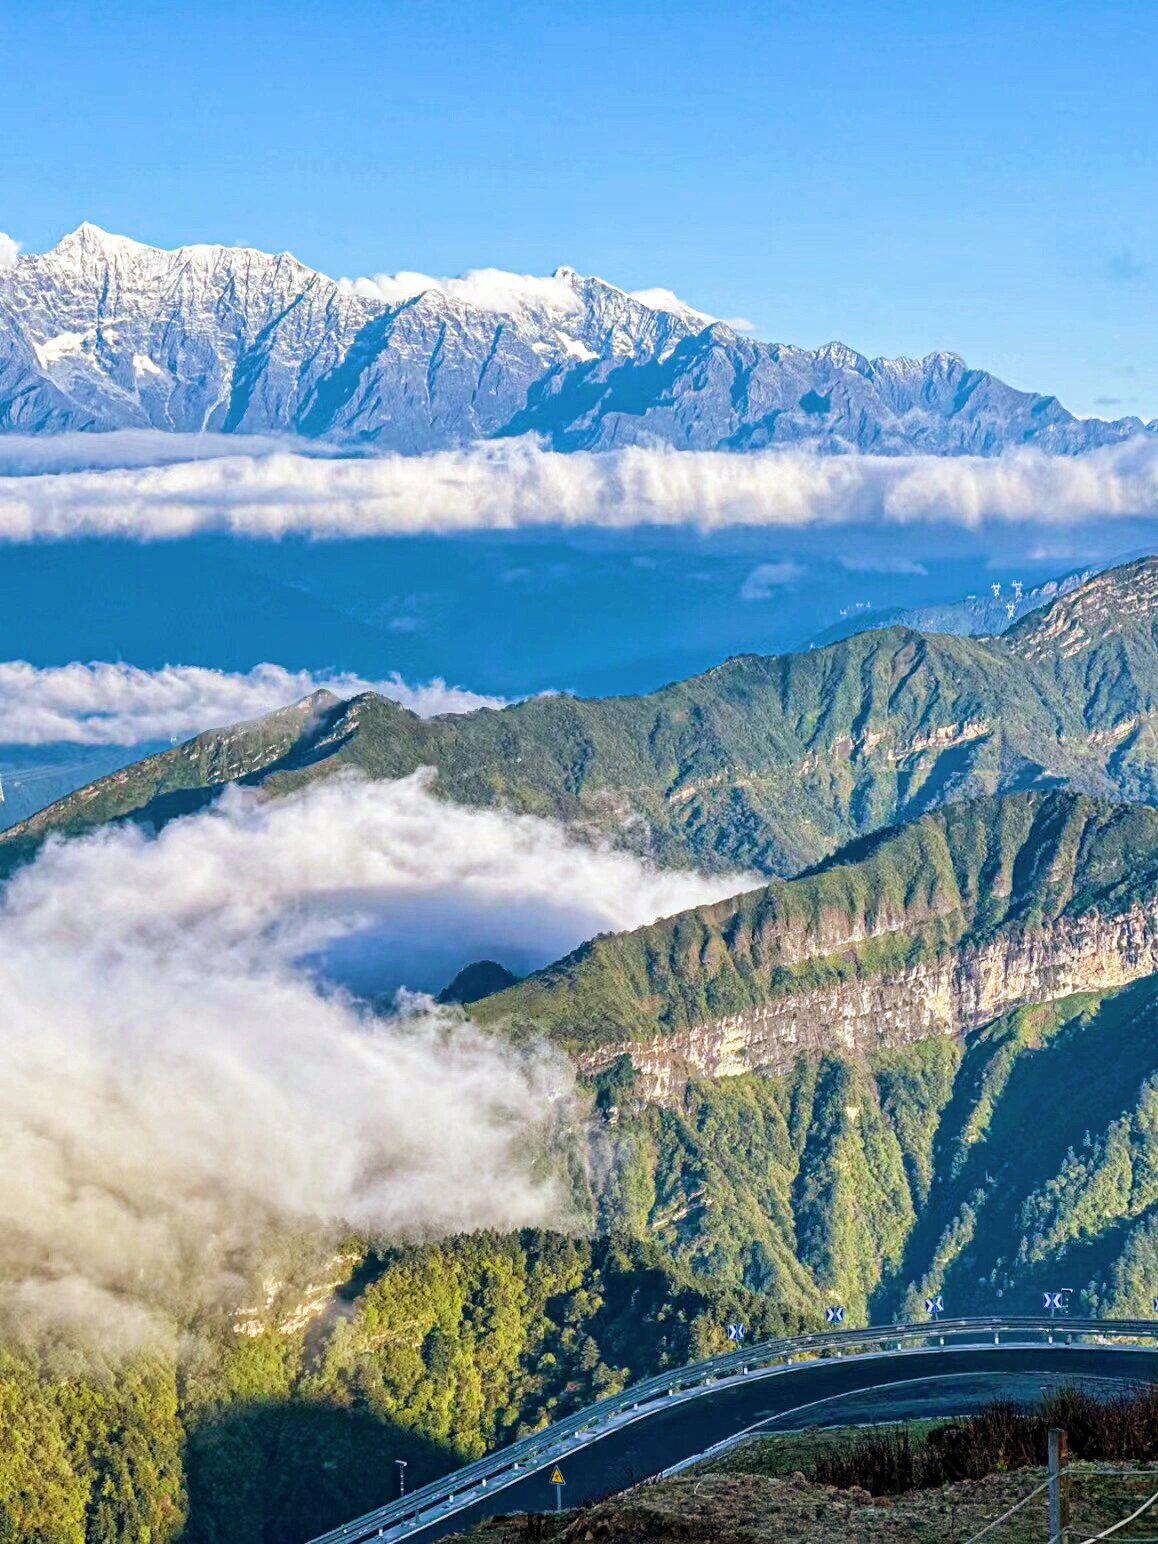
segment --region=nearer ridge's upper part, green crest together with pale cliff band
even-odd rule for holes
[[[474,1016],[648,1087],[783,1072],[801,1050],[960,1034],[1017,1002],[1158,970],[1158,812],[1068,792],[948,804],[631,933],[593,939]]]

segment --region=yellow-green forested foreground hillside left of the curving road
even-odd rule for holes
[[[664,1366],[795,1329],[622,1235],[366,1257],[349,1302],[103,1363],[0,1357],[0,1541],[293,1544]]]

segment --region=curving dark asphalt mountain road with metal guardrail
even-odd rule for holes
[[[954,1320],[937,1329],[769,1342],[638,1385],[315,1544],[428,1544],[497,1513],[545,1512],[556,1504],[556,1467],[564,1504],[573,1507],[678,1468],[753,1427],[953,1414],[1007,1390],[1025,1397],[1059,1379],[1152,1382],[1152,1336],[1158,1340],[1158,1325],[1146,1322]]]

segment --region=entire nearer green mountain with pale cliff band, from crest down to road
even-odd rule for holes
[[[577,1056],[599,1217],[696,1271],[857,1319],[1025,1312],[1058,1280],[1146,1314],[1156,967],[1158,815],[1010,795],[471,1011]]]

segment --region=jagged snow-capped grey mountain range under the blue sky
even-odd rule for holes
[[[744,337],[667,292],[557,269],[330,279],[283,253],[176,252],[80,225],[0,272],[0,432],[295,434],[405,452],[1076,454],[1158,420],[1076,418],[956,354],[869,360]]]

